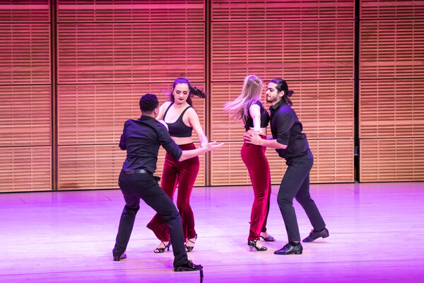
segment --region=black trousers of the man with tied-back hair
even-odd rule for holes
[[[288,168],[283,180],[281,180],[277,202],[283,216],[289,242],[300,241],[298,219],[296,219],[295,208],[293,207],[294,198],[305,209],[314,230],[321,231],[325,228],[324,219],[322,219],[317,205],[310,196],[310,171],[313,163],[314,156],[312,156],[310,150],[302,156],[288,158],[286,162]]]

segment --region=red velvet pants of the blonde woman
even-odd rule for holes
[[[261,135],[261,137],[266,139],[265,136]],[[253,144],[245,143],[242,146],[242,161],[249,171],[254,192],[248,240],[257,240],[261,232],[266,232],[266,219],[268,219],[271,197],[271,174],[265,150],[266,147]]]

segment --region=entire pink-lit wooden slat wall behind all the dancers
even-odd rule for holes
[[[315,157],[312,182],[353,181],[354,0],[211,0],[211,54],[204,0],[55,1],[57,11],[49,0],[0,2],[0,192],[117,187],[124,121],[139,117],[144,93],[163,103],[161,91],[179,76],[210,86],[208,104],[194,98],[194,108],[205,132],[210,115],[209,138],[226,142],[211,154],[211,183],[201,156],[196,185],[250,183],[242,125],[222,109],[247,74],[283,77],[295,91]],[[359,1],[360,181],[424,180],[424,1]],[[272,149],[267,156],[279,183],[284,161]]]

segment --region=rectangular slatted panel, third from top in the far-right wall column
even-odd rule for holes
[[[359,125],[360,138],[424,137],[423,79],[360,81]]]

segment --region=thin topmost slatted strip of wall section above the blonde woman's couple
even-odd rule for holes
[[[212,0],[212,21],[353,19],[354,0]]]

